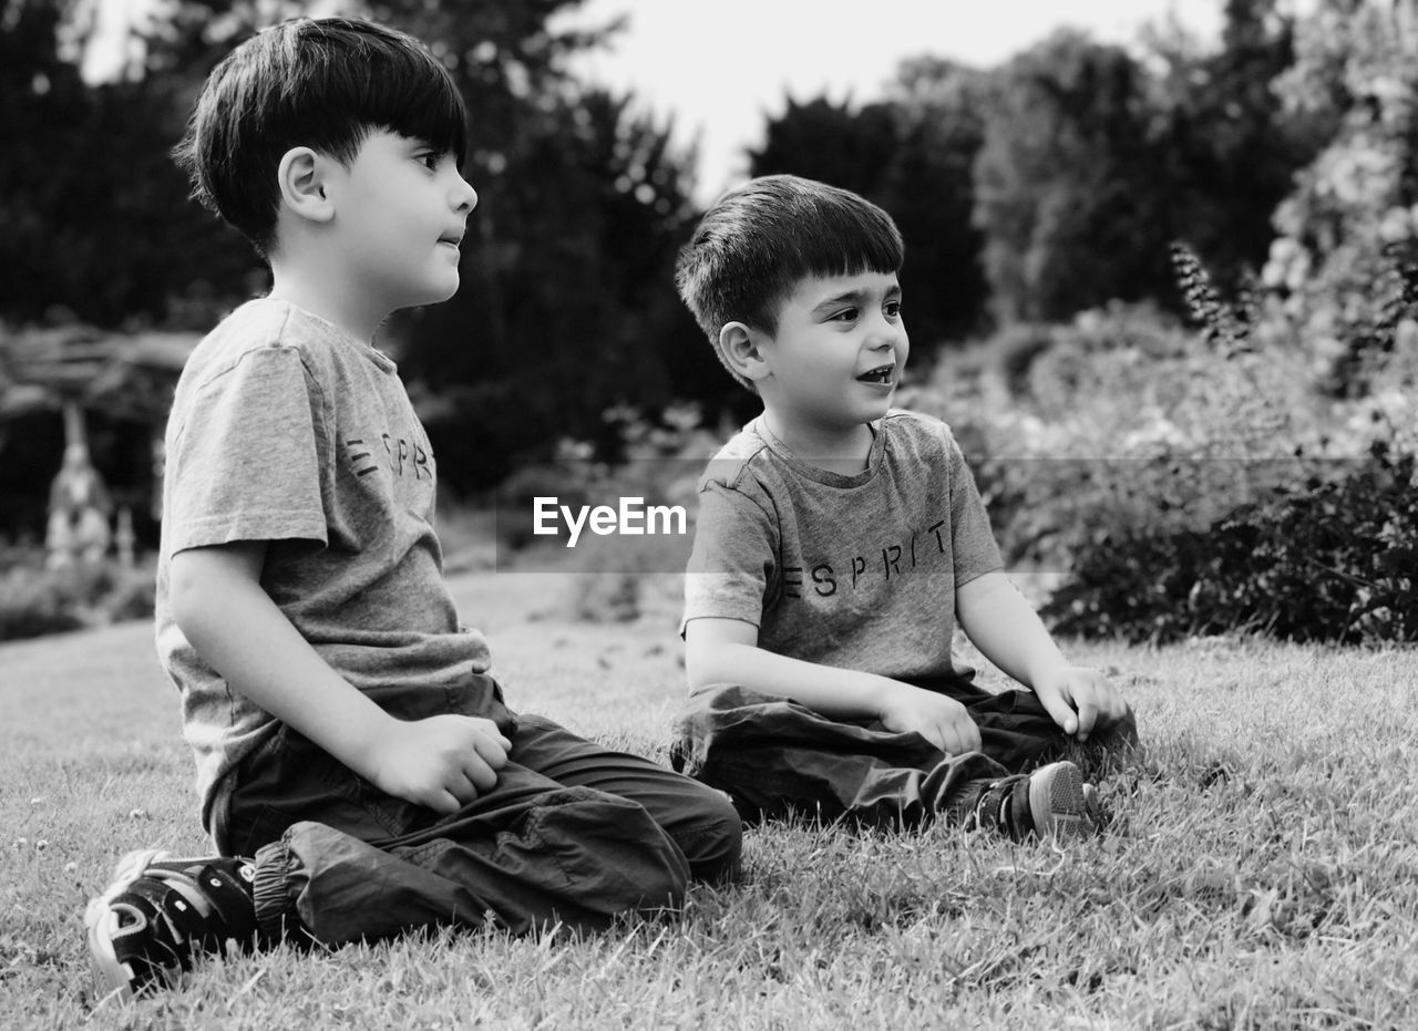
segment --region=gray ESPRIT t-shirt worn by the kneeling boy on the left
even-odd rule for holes
[[[356,688],[454,698],[488,668],[444,584],[432,451],[389,357],[289,303],[251,301],[187,360],[166,450],[157,654],[182,689],[204,825],[225,774],[277,723],[183,637],[176,552],[268,542],[261,586]]]

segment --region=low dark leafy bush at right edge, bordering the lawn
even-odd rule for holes
[[[1418,641],[1415,457],[1377,442],[1207,530],[1127,532],[1076,550],[1044,607],[1059,632],[1166,642],[1251,630],[1290,641]]]

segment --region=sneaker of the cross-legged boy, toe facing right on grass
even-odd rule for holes
[[[1093,832],[1098,790],[1073,763],[1049,763],[1029,774],[1001,777],[980,791],[970,824],[993,827],[1014,841],[1082,838]]]

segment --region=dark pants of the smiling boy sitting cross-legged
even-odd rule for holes
[[[718,685],[691,696],[671,764],[727,791],[750,824],[797,814],[910,827],[964,818],[990,780],[1137,743],[1132,710],[1079,746],[1032,692],[993,693],[967,676],[919,686],[970,710],[980,728],[978,752],[947,756],[920,735],[895,733],[876,720],[830,719],[791,699]]]

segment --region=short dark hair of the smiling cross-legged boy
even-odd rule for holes
[[[898,272],[905,245],[891,216],[851,190],[761,176],[726,193],[679,251],[675,286],[729,373],[719,330],[777,332],[778,308],[807,277]]]

